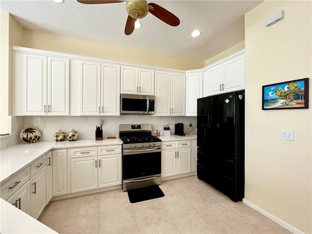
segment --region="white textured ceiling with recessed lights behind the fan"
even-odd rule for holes
[[[172,27],[151,13],[126,36],[126,2],[82,4],[76,0],[1,0],[23,28],[142,50],[206,60],[244,40],[244,14],[262,0],[148,0],[172,12]],[[193,30],[201,35],[192,37]]]

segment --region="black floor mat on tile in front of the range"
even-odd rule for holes
[[[128,192],[128,197],[131,203],[150,200],[154,198],[161,198],[165,196],[158,185],[132,189],[132,190],[128,190],[127,192]]]

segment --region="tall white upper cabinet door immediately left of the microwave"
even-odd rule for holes
[[[101,65],[101,114],[120,115],[120,66]]]

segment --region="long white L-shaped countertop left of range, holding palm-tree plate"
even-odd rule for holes
[[[95,139],[78,140],[75,142],[37,142],[32,144],[16,144],[0,150],[0,181],[20,172],[27,165],[35,162],[41,155],[52,149],[87,147],[100,145],[122,144],[119,138],[96,141]]]

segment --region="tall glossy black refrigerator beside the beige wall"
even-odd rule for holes
[[[197,177],[244,198],[245,90],[197,99]]]

